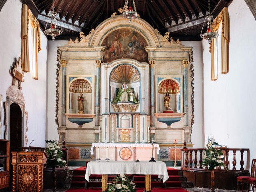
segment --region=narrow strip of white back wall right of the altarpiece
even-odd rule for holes
[[[203,144],[203,75],[202,75],[202,43],[199,41],[184,41],[183,45],[193,47],[194,54],[194,125],[192,126],[191,142],[193,148],[201,148]],[[189,69],[188,69],[189,70]],[[190,86],[190,82],[188,82]],[[188,100],[190,100],[190,96]],[[189,122],[190,124],[190,122]]]

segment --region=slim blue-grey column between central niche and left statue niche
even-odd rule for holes
[[[100,64],[101,60],[96,60],[97,74],[96,74],[96,120],[95,127],[100,126]]]

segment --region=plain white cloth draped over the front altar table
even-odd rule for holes
[[[85,179],[89,182],[91,174],[115,175],[115,174],[138,174],[138,175],[158,175],[163,182],[168,180],[166,164],[162,161],[90,161],[86,166]]]

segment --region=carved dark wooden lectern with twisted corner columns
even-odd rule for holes
[[[12,152],[12,192],[42,192],[45,152]]]

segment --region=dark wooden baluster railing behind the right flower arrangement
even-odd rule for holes
[[[185,146],[186,147],[186,146]],[[220,150],[222,150],[223,154],[224,154],[224,168],[228,169],[228,166],[230,164],[229,161],[229,154],[231,152],[233,152],[233,160],[232,160],[232,170],[236,170],[236,153],[239,151],[241,154],[241,158],[240,158],[240,170],[244,170],[244,151],[249,151],[249,149],[247,148],[224,148],[224,147],[220,147],[218,148]],[[205,150],[205,148],[194,148],[194,149],[188,149],[188,148],[183,148],[181,149],[182,151],[184,151],[184,162],[183,162],[183,167],[184,168],[193,168],[193,169],[208,169],[208,166],[202,166],[201,163],[203,162],[203,152]],[[199,161],[198,161],[198,152],[199,152]],[[193,158],[194,157],[194,158]],[[199,163],[199,166],[198,166]],[[194,166],[193,166],[194,164]],[[231,166],[230,166],[231,168]],[[222,167],[218,166],[218,168],[221,170]]]

